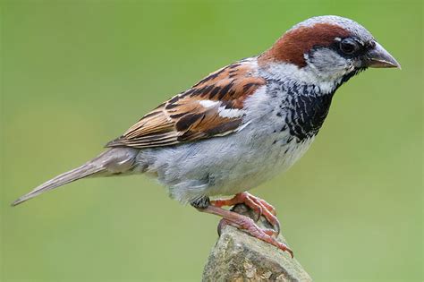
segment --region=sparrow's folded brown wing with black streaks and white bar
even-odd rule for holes
[[[244,100],[266,81],[249,61],[210,73],[169,99],[106,147],[151,148],[224,136],[242,127]]]

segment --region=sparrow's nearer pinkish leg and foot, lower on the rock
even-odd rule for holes
[[[249,233],[253,237],[256,237],[259,240],[262,240],[264,242],[267,242],[268,244],[273,244],[278,249],[284,252],[289,252],[293,258],[293,251],[290,250],[289,247],[287,247],[287,245],[281,242],[278,242],[275,237],[271,236],[271,234],[273,233],[273,230],[270,231],[270,229],[264,230],[260,228],[259,226],[256,225],[253,219],[243,216],[241,214],[238,214],[236,212],[233,212],[231,210],[222,209],[214,205],[211,205],[209,204],[208,198],[204,198],[204,200],[193,201],[191,202],[191,205],[201,212],[207,212],[207,213],[211,213],[216,216],[222,217],[223,219],[221,219],[220,226],[225,224],[225,225],[235,226],[238,229],[245,230],[247,233]]]

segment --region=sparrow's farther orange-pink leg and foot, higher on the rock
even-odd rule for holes
[[[276,209],[268,204],[267,201],[255,197],[249,192],[238,193],[228,200],[210,201],[211,205],[218,208],[223,206],[233,206],[240,203],[245,204],[250,209],[253,209],[258,213],[258,219],[256,221],[259,220],[260,216],[264,216],[264,218],[267,218],[267,221],[276,228],[276,235],[280,233],[280,222],[278,221],[278,218],[276,218]]]

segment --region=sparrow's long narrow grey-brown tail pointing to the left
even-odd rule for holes
[[[137,153],[138,150],[131,148],[114,148],[107,150],[81,167],[74,168],[62,175],[57,175],[55,178],[39,185],[28,194],[25,194],[18,200],[13,201],[12,206],[19,205],[24,201],[37,197],[43,192],[53,190],[64,184],[69,184],[75,180],[85,178],[90,175],[122,174],[132,169]]]

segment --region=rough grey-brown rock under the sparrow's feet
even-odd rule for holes
[[[237,205],[232,210],[255,218],[255,214],[244,205]],[[265,218],[260,218],[258,225],[270,227]],[[278,239],[286,244],[282,235]],[[288,252],[282,252],[233,226],[225,226],[209,254],[202,280],[307,282],[312,278]]]

